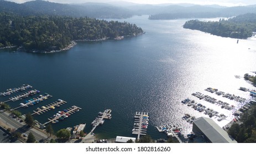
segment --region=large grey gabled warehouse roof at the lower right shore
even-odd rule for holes
[[[193,122],[212,143],[237,142],[236,140],[232,140],[227,132],[211,118],[200,117]]]

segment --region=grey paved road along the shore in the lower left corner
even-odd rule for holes
[[[34,128],[27,128],[25,123],[19,123],[18,120],[13,119],[9,117],[9,114],[7,112],[0,113],[0,120],[9,125],[9,127],[14,128],[15,130],[19,131],[20,133],[29,134],[32,133],[35,136],[35,139],[37,141],[40,141],[41,139],[47,139],[48,136],[44,133],[41,133],[39,130],[36,130]]]

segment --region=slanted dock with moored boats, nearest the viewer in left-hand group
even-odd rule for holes
[[[54,114],[53,117],[48,118],[48,122],[44,123],[43,125],[46,125],[48,123],[58,123],[59,120],[64,120],[65,118],[71,116],[71,114],[74,114],[76,112],[80,111],[80,107],[72,106],[71,108],[64,109],[63,111],[59,111],[58,113]]]

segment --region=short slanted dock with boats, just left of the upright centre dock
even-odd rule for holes
[[[93,122],[91,123],[92,130],[90,133],[92,133],[96,129],[96,127],[98,127],[98,125],[102,125],[105,122],[104,119],[111,119],[111,112],[111,109],[106,109],[104,112],[99,112],[98,117],[96,117],[95,120],[93,120]]]

